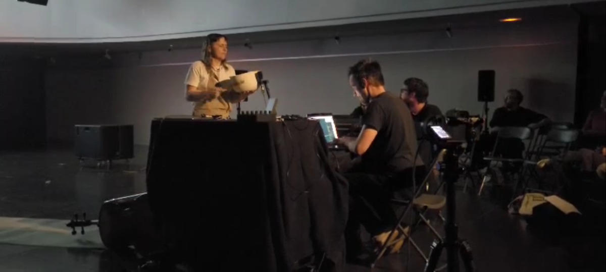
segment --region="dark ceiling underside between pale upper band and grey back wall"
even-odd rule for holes
[[[385,36],[401,35],[420,32],[444,32],[450,27],[454,35],[459,30],[468,28],[498,28],[504,23],[502,18],[523,18],[516,25],[552,24],[553,22],[570,22],[578,19],[578,10],[604,10],[604,2],[580,5],[556,5],[551,7],[524,8],[517,10],[498,10],[494,12],[468,13],[462,15],[448,15],[431,18],[404,19],[395,21],[368,22],[360,24],[335,25],[327,27],[299,28],[296,30],[275,30],[268,32],[240,33],[229,35],[230,46],[242,46],[245,43],[256,47],[260,44],[276,42],[309,41],[320,39],[333,39],[339,36],[344,41],[348,37],[359,36]],[[83,58],[85,55],[94,55],[99,58],[108,50],[110,54],[129,53],[157,50],[180,50],[201,47],[204,38],[168,39],[141,42],[104,42],[89,44],[59,44],[59,43],[0,43],[0,56],[74,56]]]

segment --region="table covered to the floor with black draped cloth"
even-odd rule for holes
[[[339,267],[347,182],[328,156],[317,121],[154,119],[150,208],[196,270],[291,271],[314,254]]]

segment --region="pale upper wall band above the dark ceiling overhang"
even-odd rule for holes
[[[44,7],[4,0],[0,42],[152,41],[590,1],[50,0]]]

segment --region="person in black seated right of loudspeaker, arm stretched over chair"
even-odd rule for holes
[[[524,101],[524,96],[521,91],[516,89],[508,90],[507,96],[505,96],[505,105],[494,110],[493,117],[490,123],[488,123],[490,127],[541,128],[550,124],[551,121],[547,116],[521,107],[520,104],[522,101]],[[522,158],[524,148],[524,143],[518,139],[499,140],[496,153],[504,158]]]

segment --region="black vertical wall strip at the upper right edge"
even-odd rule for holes
[[[578,7],[579,45],[574,122],[581,126],[590,111],[599,107],[606,90],[606,16],[604,2]]]

